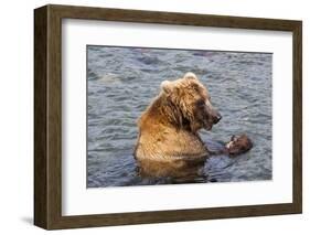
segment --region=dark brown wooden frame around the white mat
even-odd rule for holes
[[[289,31],[293,38],[292,203],[62,216],[62,19]],[[45,6],[34,10],[34,224],[72,228],[302,211],[302,22],[121,9]]]

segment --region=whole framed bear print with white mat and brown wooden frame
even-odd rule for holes
[[[301,21],[34,10],[34,224],[302,211]]]

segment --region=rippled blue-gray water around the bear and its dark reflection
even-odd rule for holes
[[[193,182],[270,180],[272,54],[87,46],[87,186],[188,182],[141,178],[132,157],[137,119],[160,83],[195,73],[223,119],[201,131],[210,149],[246,133],[254,148],[236,158],[211,157]]]

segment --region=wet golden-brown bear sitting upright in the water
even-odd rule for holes
[[[209,151],[197,130],[211,130],[221,118],[195,74],[189,72],[182,78],[164,81],[160,94],[138,121],[135,158],[160,162],[205,160]]]

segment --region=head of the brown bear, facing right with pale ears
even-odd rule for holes
[[[162,82],[161,89],[174,120],[193,132],[201,128],[211,130],[222,118],[212,106],[206,87],[191,72],[182,78]]]

